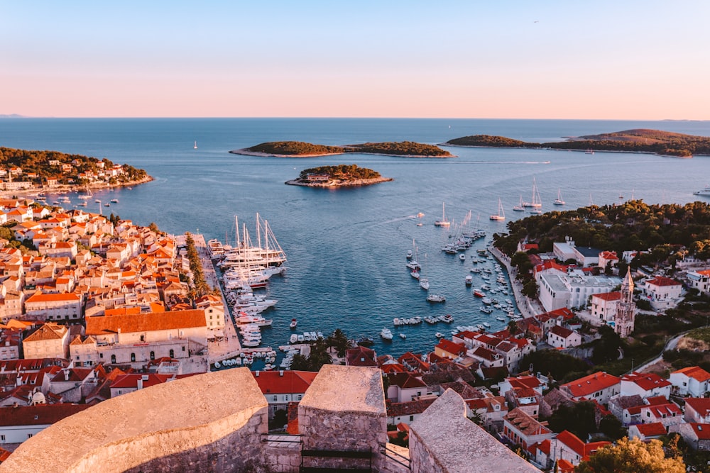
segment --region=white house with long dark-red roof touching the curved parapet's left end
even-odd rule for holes
[[[0,408],[0,443],[23,443],[53,423],[89,408],[79,404],[38,404]]]

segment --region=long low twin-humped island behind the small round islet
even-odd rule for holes
[[[272,141],[230,152],[235,155],[270,157],[316,157],[342,155],[348,152],[406,157],[454,157],[450,152],[442,150],[438,146],[414,143],[413,141],[361,143],[344,146],[314,145],[302,141]]]

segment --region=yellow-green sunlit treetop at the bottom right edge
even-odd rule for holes
[[[666,458],[660,440],[643,443],[638,439],[622,438],[616,445],[602,447],[586,462],[581,462],[577,473],[685,473],[682,458]]]

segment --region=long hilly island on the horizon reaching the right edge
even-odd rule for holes
[[[528,143],[503,136],[472,135],[454,138],[444,145],[484,148],[551,148],[554,150],[650,152],[655,155],[693,157],[710,155],[710,138],[645,128],[601,135],[569,137],[559,143]]]

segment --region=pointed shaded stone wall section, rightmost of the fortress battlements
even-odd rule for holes
[[[540,473],[466,418],[466,405],[452,389],[410,425],[413,473]]]

